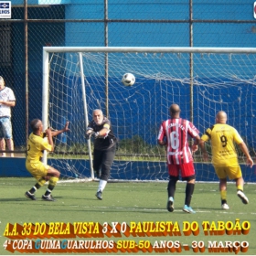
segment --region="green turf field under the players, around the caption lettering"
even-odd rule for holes
[[[255,255],[256,254],[256,197],[255,185],[245,185],[244,191],[250,199],[248,205],[243,205],[240,198],[236,196],[236,187],[233,183],[228,185],[228,203],[229,210],[220,208],[219,185],[217,183],[202,184],[197,183],[191,206],[197,211],[196,214],[187,214],[182,211],[185,197],[185,183],[178,183],[175,197],[175,211],[168,212],[166,206],[166,182],[159,183],[109,183],[104,190],[103,200],[95,197],[98,182],[88,183],[59,183],[53,191],[53,196],[57,199],[55,202],[45,202],[41,200],[46,187],[41,187],[37,191],[37,201],[32,201],[24,196],[28,188],[35,184],[33,178],[1,178],[0,179],[0,254],[21,254],[19,251],[14,253],[5,251],[3,247],[5,240],[5,228],[7,223],[23,226],[24,223],[49,223],[49,222],[98,222],[103,225],[108,222],[125,222],[130,228],[135,222],[144,221],[172,221],[177,223],[181,232],[180,236],[144,236],[144,237],[111,237],[98,238],[98,240],[134,240],[137,244],[140,241],[149,241],[152,245],[155,241],[172,240],[179,241],[181,244],[180,252],[174,252],[177,255],[227,255],[236,254],[231,252],[209,252],[208,242],[220,241],[223,244],[226,241],[247,241],[249,250],[239,251],[237,254]],[[210,225],[218,225],[218,221],[232,222],[234,225],[236,219],[240,219],[240,225],[244,221],[249,221],[251,229],[249,234],[224,234],[224,235],[205,235],[202,222],[209,221]],[[199,234],[197,236],[190,234],[185,236],[184,221],[198,224]],[[132,223],[131,223],[132,222]],[[54,238],[52,238],[54,239]],[[35,239],[34,239],[35,240]],[[63,239],[59,239],[63,240]],[[95,238],[79,238],[74,240],[96,240]],[[193,241],[203,241],[205,244],[204,252],[194,252],[192,249]],[[188,244],[189,250],[186,251],[184,245]],[[245,244],[245,243],[243,243]],[[237,245],[237,243],[236,243]],[[147,252],[148,253],[148,252]],[[156,252],[152,254],[169,254],[170,251]],[[35,253],[31,253],[34,254]],[[37,253],[36,253],[37,254]],[[40,253],[45,254],[45,253]],[[60,254],[60,253],[58,253]],[[67,253],[64,253],[67,254]],[[84,254],[84,253],[83,253]],[[95,253],[94,253],[95,254]],[[104,253],[101,253],[104,254]],[[122,251],[108,254],[123,254]],[[128,252],[126,252],[128,254]],[[130,254],[143,254],[138,251]]]

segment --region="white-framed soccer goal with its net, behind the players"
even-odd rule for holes
[[[92,111],[101,109],[118,138],[111,180],[167,180],[165,146],[157,135],[173,103],[200,135],[217,112],[227,112],[254,158],[255,68],[256,48],[45,47],[42,121],[57,130],[69,121],[69,133],[55,138],[55,152],[44,161],[63,177],[93,179],[93,144],[85,131]],[[124,73],[134,75],[133,86],[123,85]],[[238,155],[245,181],[254,182],[254,168],[245,165],[239,148]],[[200,151],[194,162],[197,181],[218,181]]]

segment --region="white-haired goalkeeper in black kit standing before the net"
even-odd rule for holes
[[[111,166],[116,151],[116,137],[111,130],[111,122],[101,110],[92,112],[93,120],[86,130],[86,138],[94,138],[93,169],[100,178],[96,197],[102,200],[102,192],[110,177]]]

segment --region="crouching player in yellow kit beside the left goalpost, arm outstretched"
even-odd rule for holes
[[[48,128],[45,133],[43,133],[43,123],[39,119],[32,120],[30,126],[33,132],[30,133],[27,142],[26,168],[27,171],[37,179],[37,184],[27,191],[25,196],[31,200],[36,200],[35,192],[48,181],[48,188],[46,193],[42,196],[42,199],[55,201],[51,196],[51,191],[56,186],[60,173],[52,166],[42,163],[41,157],[43,156],[44,150],[48,152],[54,150],[52,136],[69,131],[69,122],[66,123],[62,130],[51,131],[51,129]],[[45,140],[44,136],[47,136],[48,139]]]

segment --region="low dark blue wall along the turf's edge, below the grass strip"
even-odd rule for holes
[[[25,167],[25,159],[24,158],[1,158],[1,171],[0,176],[14,176],[14,177],[31,177],[31,175],[27,172]],[[80,165],[85,166],[85,171],[83,173],[84,176],[90,175],[90,165],[89,161],[86,160],[70,160],[70,165],[74,167]],[[49,165],[55,165],[56,161],[54,159],[48,160]],[[111,179],[124,179],[124,180],[156,180],[161,179],[167,180],[167,170],[164,162],[135,162],[131,161],[129,163],[122,161],[114,161],[113,165],[125,165],[127,170],[131,169],[133,171],[127,171],[125,173],[117,173],[114,170],[111,174]],[[159,166],[158,171],[155,171],[155,166]],[[197,180],[199,181],[208,181],[208,182],[218,182],[219,179],[215,175],[215,171],[213,166],[208,164],[195,164]],[[207,171],[206,171],[207,170]],[[243,174],[243,178],[245,182],[255,182],[256,176],[253,174],[255,171],[255,166],[251,170],[250,167],[246,165],[241,165],[241,171]],[[68,174],[69,176],[75,176],[73,174]]]

